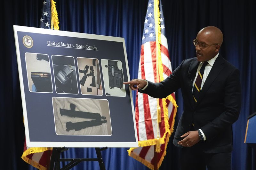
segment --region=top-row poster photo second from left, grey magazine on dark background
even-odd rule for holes
[[[74,57],[52,55],[52,67],[56,92],[78,94]]]

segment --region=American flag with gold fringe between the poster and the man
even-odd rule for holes
[[[159,82],[170,74],[172,66],[165,37],[161,0],[149,0],[142,35],[138,79]],[[156,99],[137,91],[135,120],[139,147],[130,148],[129,156],[150,169],[158,169],[166,155],[176,112],[174,93],[165,99]]]

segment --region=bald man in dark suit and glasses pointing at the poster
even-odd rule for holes
[[[181,88],[184,110],[173,144],[181,148],[182,170],[230,170],[232,124],[241,107],[239,70],[219,54],[223,34],[208,26],[193,40],[196,58],[181,62],[164,81],[142,79],[124,82],[155,98]]]

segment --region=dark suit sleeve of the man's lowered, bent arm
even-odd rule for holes
[[[234,69],[226,80],[223,109],[212,122],[201,127],[207,140],[212,140],[222,130],[230,127],[239,117],[241,107],[241,85],[238,69]],[[217,107],[217,106],[216,106]]]

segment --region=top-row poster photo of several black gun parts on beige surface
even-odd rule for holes
[[[103,95],[99,60],[77,57],[79,81],[83,95]]]

